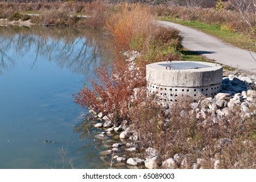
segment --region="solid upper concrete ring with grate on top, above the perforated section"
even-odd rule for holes
[[[146,79],[155,85],[210,86],[221,83],[222,77],[222,66],[210,62],[155,62],[146,66]]]

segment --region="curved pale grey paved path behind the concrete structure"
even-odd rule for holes
[[[251,52],[253,55],[251,57],[249,51],[227,45],[204,32],[168,21],[158,22],[178,29],[180,35],[184,37],[182,44],[185,48],[197,51],[208,59],[216,60],[219,63],[256,73],[256,61],[253,59],[253,57],[256,59],[255,52]]]

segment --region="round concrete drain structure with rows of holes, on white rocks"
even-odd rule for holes
[[[160,103],[184,95],[196,100],[200,94],[214,97],[221,90],[223,68],[209,62],[155,62],[146,66],[146,79],[149,94],[156,94]]]

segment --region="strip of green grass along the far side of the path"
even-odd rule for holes
[[[163,21],[172,21],[174,23],[179,23],[181,25],[206,32],[207,34],[215,36],[227,44],[240,47],[241,49],[256,51],[256,39],[251,39],[242,33],[223,30],[221,29],[221,25],[209,25],[198,21],[183,21],[182,19],[167,17],[162,17],[160,19]]]

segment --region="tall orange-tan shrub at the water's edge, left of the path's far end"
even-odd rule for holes
[[[106,29],[121,49],[129,49],[131,44],[138,48],[146,40],[152,21],[153,17],[146,6],[124,4],[108,18]]]

